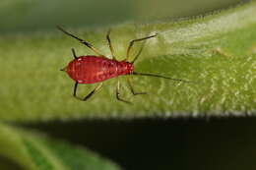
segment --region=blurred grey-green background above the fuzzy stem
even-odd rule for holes
[[[1,0],[0,32],[42,31],[66,27],[100,28],[204,15],[241,0]]]

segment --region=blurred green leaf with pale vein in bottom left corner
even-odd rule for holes
[[[0,124],[0,155],[28,170],[117,170],[92,151]]]

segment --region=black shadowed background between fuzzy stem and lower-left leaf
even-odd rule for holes
[[[255,169],[256,118],[84,120],[27,125],[127,170]]]

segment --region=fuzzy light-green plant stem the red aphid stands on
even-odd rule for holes
[[[94,54],[62,32],[9,34],[0,39],[0,119],[29,121],[79,118],[134,118],[226,116],[255,113],[256,3],[175,23],[125,24],[112,28],[115,54],[124,59],[128,42],[158,32],[135,63],[138,72],[155,73],[194,83],[173,83],[135,77],[134,88],[148,95],[133,96],[120,78],[121,95],[115,99],[116,79],[106,81],[88,101],[72,97],[74,82],[59,72],[78,55]],[[109,56],[107,29],[66,28],[92,42]],[[133,56],[140,44],[132,49]],[[85,96],[95,85],[80,85]],[[8,114],[7,114],[8,113]]]

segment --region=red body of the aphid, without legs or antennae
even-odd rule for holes
[[[79,84],[96,84],[110,78],[132,74],[133,64],[88,55],[74,59],[64,70]]]

